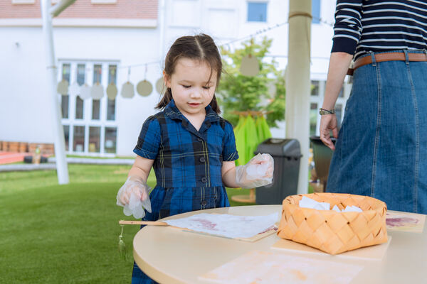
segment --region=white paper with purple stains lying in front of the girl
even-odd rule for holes
[[[265,216],[237,216],[230,214],[195,214],[190,217],[164,220],[171,226],[227,238],[251,238],[278,221],[278,213]]]

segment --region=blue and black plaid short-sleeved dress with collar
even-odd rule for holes
[[[230,206],[221,166],[238,159],[233,126],[210,106],[197,131],[172,100],[144,122],[134,152],[154,160],[157,179],[149,195],[152,213],[146,212],[144,220]],[[134,263],[132,284],[137,283],[155,282]]]

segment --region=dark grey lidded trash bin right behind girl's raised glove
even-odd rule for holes
[[[269,138],[258,145],[255,155],[268,153],[274,159],[273,183],[257,187],[257,204],[282,204],[288,195],[296,195],[301,150],[296,139]]]

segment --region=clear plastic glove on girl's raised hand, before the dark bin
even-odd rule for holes
[[[270,154],[258,154],[246,165],[236,167],[236,183],[242,188],[269,185],[273,182],[273,172],[273,157]]]

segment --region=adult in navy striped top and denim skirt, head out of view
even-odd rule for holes
[[[337,1],[320,109],[320,139],[334,150],[328,192],[427,214],[426,50],[426,1]],[[334,104],[352,60],[352,93],[338,133]]]

